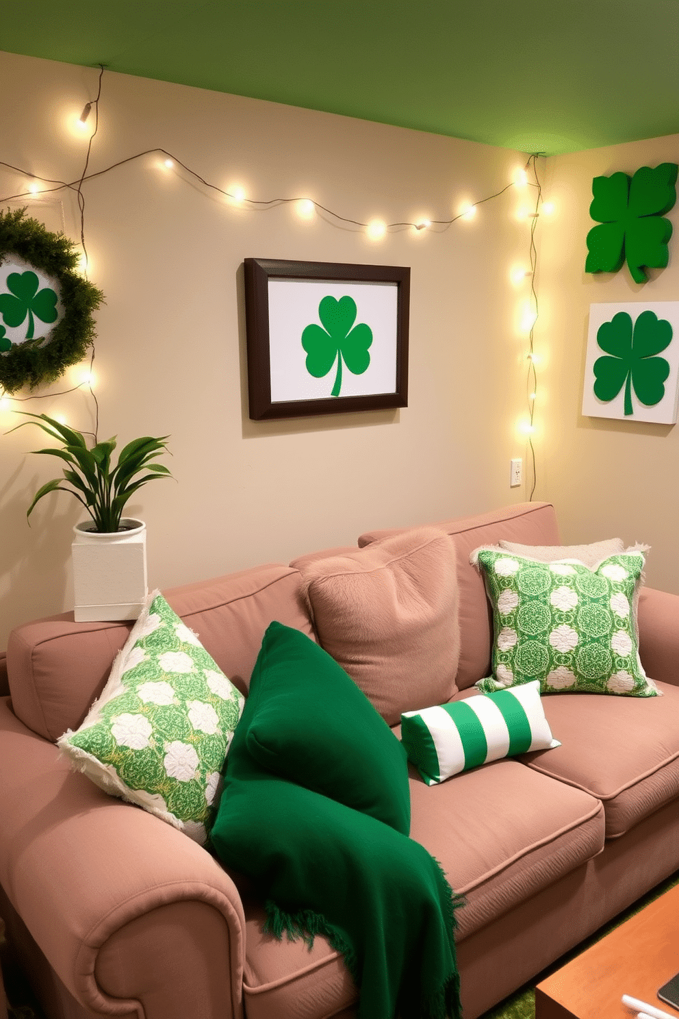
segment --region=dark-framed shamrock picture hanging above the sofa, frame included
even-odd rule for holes
[[[252,420],[407,407],[409,268],[244,267]]]

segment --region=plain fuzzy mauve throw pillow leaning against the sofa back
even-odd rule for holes
[[[452,539],[418,528],[300,564],[321,646],[390,726],[457,692],[457,580]]]

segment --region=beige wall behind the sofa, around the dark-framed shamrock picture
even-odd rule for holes
[[[86,143],[71,125],[96,95],[97,73],[0,54],[0,159],[77,179]],[[308,196],[362,221],[447,218],[504,187],[525,162],[473,143],[112,72],[100,114],[91,170],[162,147],[220,186],[240,184],[260,199]],[[24,186],[23,174],[0,167],[0,198]],[[509,278],[527,262],[528,223],[516,218],[525,192],[479,206],[473,221],[438,233],[396,230],[381,243],[328,218],[302,222],[289,206],[235,209],[183,170],[163,169],[158,155],[95,178],[84,196],[91,278],[107,302],[98,313],[100,437],[171,435],[176,483],[149,485],[129,505],[149,526],[154,586],[527,497],[525,485],[509,487],[510,458],[525,457],[516,432],[525,337],[516,323],[527,291]],[[75,238],[73,194],[60,197]],[[49,223],[62,215],[53,205],[32,211]],[[408,408],[249,421],[248,256],[410,266]],[[53,390],[72,378],[69,371]],[[92,427],[81,392],[14,406]],[[14,422],[0,412],[3,431]],[[72,606],[78,504],[49,496],[31,529],[25,522],[36,488],[57,473],[51,460],[26,457],[40,444],[29,428],[0,442],[0,647],[12,626]]]

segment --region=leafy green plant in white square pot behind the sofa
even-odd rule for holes
[[[143,485],[154,478],[172,477],[163,464],[155,463],[167,450],[168,436],[132,439],[120,450],[114,467],[115,436],[89,448],[77,429],[46,414],[17,413],[34,420],[16,428],[37,425],[58,442],[33,452],[58,457],[67,465],[61,478],[53,478],[38,489],[26,517],[40,499],[54,491],[74,495],[90,515],[90,520],[73,528],[75,622],[136,619],[148,592],[146,524],[122,513]],[[64,487],[64,482],[69,487]]]

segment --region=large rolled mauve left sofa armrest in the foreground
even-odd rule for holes
[[[0,700],[0,883],[86,1008],[241,1019],[245,921],[203,848],[70,770]]]

